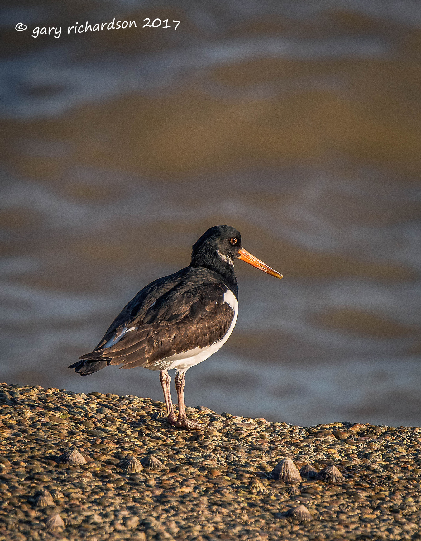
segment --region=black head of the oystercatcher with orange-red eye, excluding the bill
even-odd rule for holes
[[[241,235],[231,226],[211,227],[191,248],[191,266],[211,268],[217,272],[222,268],[226,272],[226,267],[231,267],[233,271],[234,260],[242,248]]]

